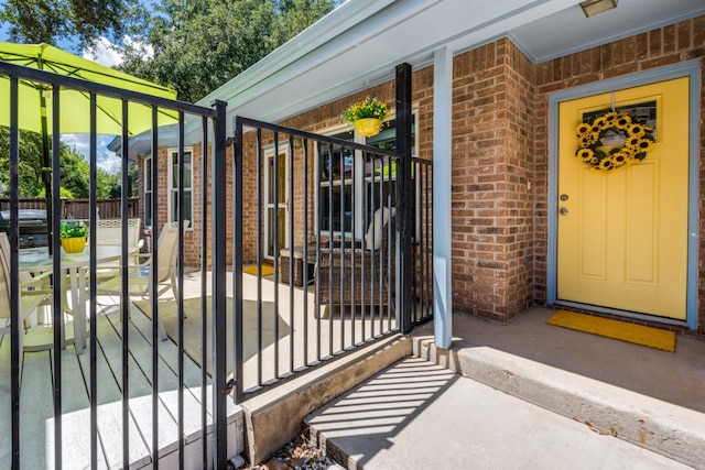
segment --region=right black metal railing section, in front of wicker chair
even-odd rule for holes
[[[393,136],[364,145],[243,117],[234,129],[232,265],[258,266],[232,277],[238,401],[432,316],[430,161],[388,150]]]

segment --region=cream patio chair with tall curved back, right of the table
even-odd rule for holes
[[[188,220],[184,220],[184,230],[186,230],[188,223]],[[174,294],[174,298],[178,298],[178,285],[176,284],[176,255],[178,254],[177,242],[178,222],[164,223],[164,227],[162,227],[162,231],[160,232],[159,240],[156,242],[159,255],[159,271],[156,273],[158,292],[155,294],[156,298],[159,298],[170,288]],[[130,276],[128,277],[128,295],[131,297],[149,296],[151,298],[152,254],[143,253],[140,254],[140,258],[144,258],[145,261],[139,263],[138,265],[130,266]],[[143,275],[144,272],[148,272],[147,276]],[[98,286],[96,287],[96,293],[98,295],[121,295],[122,276],[118,274],[117,276],[98,284]],[[164,329],[164,325],[161,320],[159,323],[159,334],[162,340],[166,339],[166,330]]]

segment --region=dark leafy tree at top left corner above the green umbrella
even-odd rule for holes
[[[56,44],[74,40],[76,51],[91,47],[99,36],[121,43],[149,17],[139,0],[4,0],[0,23],[10,40]],[[77,41],[76,41],[77,40]]]

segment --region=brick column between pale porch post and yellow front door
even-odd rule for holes
[[[455,57],[455,311],[505,321],[532,303],[532,64],[507,39]]]

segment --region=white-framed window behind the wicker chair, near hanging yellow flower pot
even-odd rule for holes
[[[415,154],[415,119],[412,117],[412,155]],[[371,138],[350,131],[332,136],[366,143],[379,149],[395,150],[397,121],[388,121],[382,132]],[[394,198],[397,172],[379,157],[356,157],[351,149],[323,144],[318,147],[318,229],[347,238],[364,238],[375,210]],[[364,195],[360,197],[360,195]],[[367,207],[365,207],[367,206]]]

